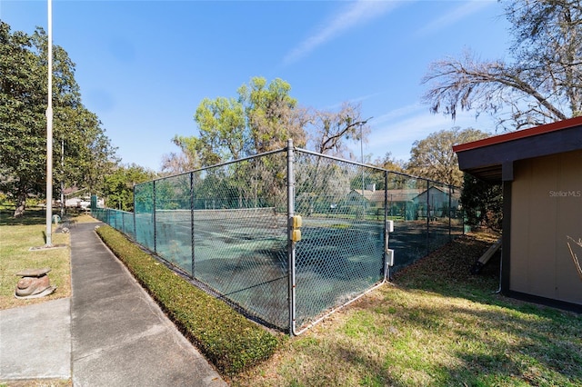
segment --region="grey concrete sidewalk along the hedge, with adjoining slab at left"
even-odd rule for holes
[[[74,386],[226,385],[105,247],[95,233],[97,224],[70,228],[70,300],[2,312],[0,380],[70,377]],[[23,332],[35,316],[57,326],[41,323]]]

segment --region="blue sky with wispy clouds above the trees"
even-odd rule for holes
[[[0,0],[0,18],[13,32],[46,29],[47,3]],[[407,161],[416,140],[453,126],[493,133],[487,116],[430,114],[421,79],[467,49],[503,59],[509,37],[497,0],[53,0],[53,42],[75,62],[83,102],[123,162],[158,171],[177,151],[175,134],[197,133],[203,98],[236,97],[254,76],[285,80],[316,109],[359,102],[372,117],[372,159]]]

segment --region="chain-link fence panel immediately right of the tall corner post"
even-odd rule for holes
[[[366,186],[383,183],[386,172],[301,150],[295,155],[295,213],[303,219],[295,313],[303,326],[384,279],[386,215],[366,198]],[[378,208],[383,203],[382,197]]]

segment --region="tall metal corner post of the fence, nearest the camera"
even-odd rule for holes
[[[295,243],[293,242],[293,216],[295,215],[295,154],[293,140],[287,140],[287,275],[289,277],[289,335],[295,332]]]

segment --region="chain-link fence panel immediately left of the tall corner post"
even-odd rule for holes
[[[286,153],[194,174],[195,277],[288,328]]]

